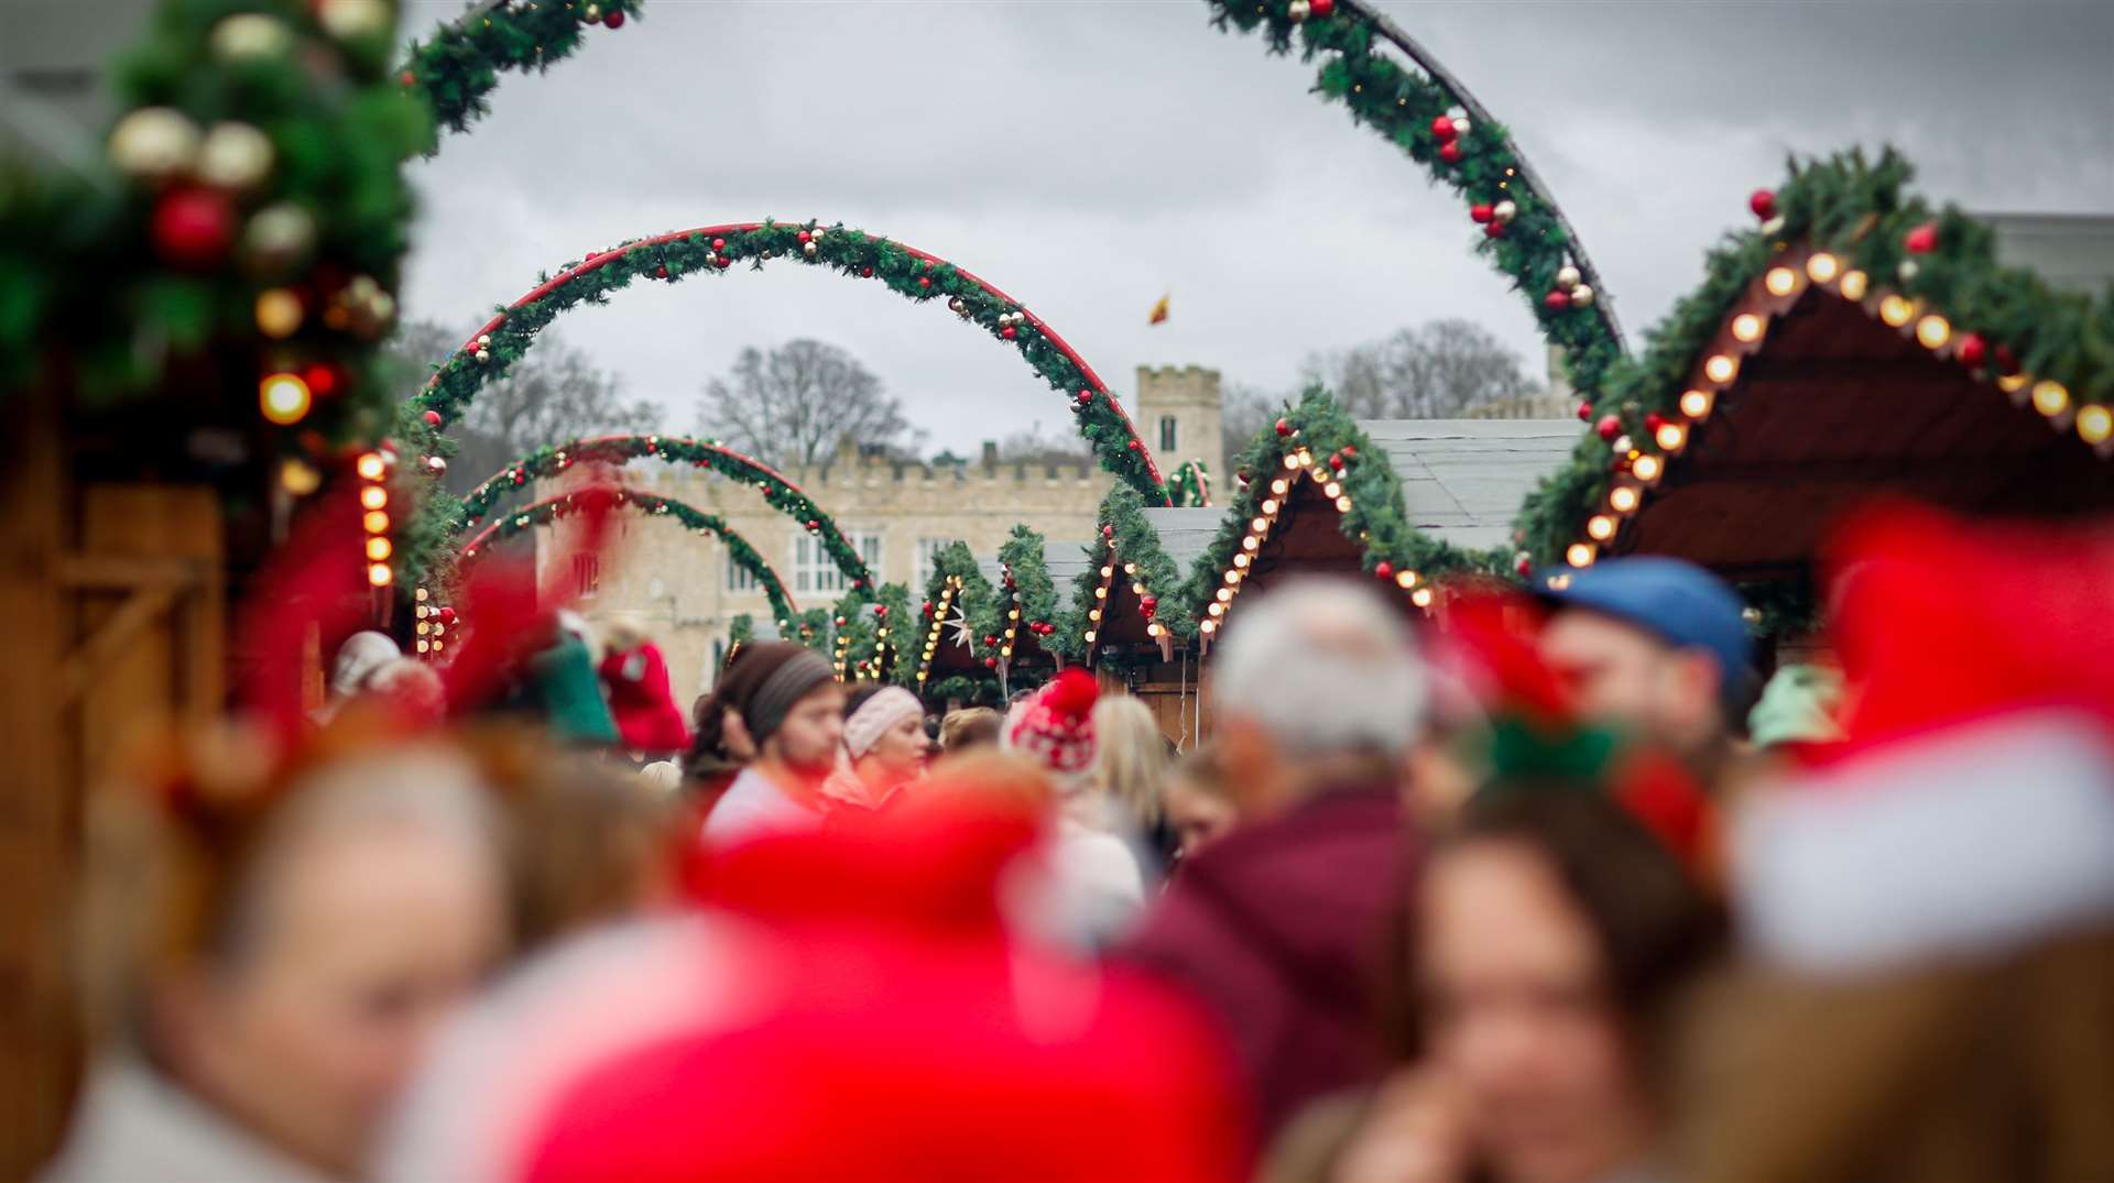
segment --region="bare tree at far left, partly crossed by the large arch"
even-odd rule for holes
[[[433,321],[410,321],[389,342],[391,363],[406,395],[419,391],[431,365],[461,344]],[[545,332],[505,378],[486,382],[461,420],[448,427],[457,444],[446,488],[467,492],[507,461],[545,444],[609,431],[651,431],[660,408],[647,399],[624,401],[615,374],[596,370],[588,355]]]

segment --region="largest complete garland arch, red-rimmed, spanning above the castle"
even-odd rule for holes
[[[558,275],[543,277],[535,289],[501,308],[463,342],[463,349],[435,368],[425,389],[404,403],[397,437],[421,452],[446,454],[440,429],[463,412],[484,382],[503,376],[528,351],[535,336],[567,308],[583,302],[600,304],[634,279],[676,283],[700,273],[719,275],[738,260],[746,260],[750,270],[761,270],[776,258],[827,266],[846,277],[877,279],[890,292],[920,304],[947,298],[947,306],[960,319],[1019,349],[1036,374],[1068,395],[1080,435],[1108,471],[1154,505],[1167,503],[1161,469],[1131,416],[1055,330],[1013,296],[939,256],[863,230],[846,230],[841,224],[698,226],[632,239],[569,262]]]

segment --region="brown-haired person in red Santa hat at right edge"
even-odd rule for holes
[[[2114,1179],[2114,526],[1833,547],[1843,739],[1731,830],[1689,1179]]]

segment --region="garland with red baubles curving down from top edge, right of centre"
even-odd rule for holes
[[[1209,0],[1211,23],[1220,30],[1262,32],[1271,53],[1292,53],[1300,42],[1304,61],[1325,57],[1315,91],[1340,101],[1355,123],[1372,127],[1395,148],[1423,165],[1431,180],[1450,186],[1476,207],[1512,201],[1516,213],[1497,234],[1476,243],[1497,270],[1526,298],[1543,338],[1558,346],[1571,384],[1592,401],[1607,370],[1621,357],[1621,338],[1607,313],[1607,294],[1592,304],[1558,302],[1558,273],[1571,262],[1581,279],[1598,283],[1583,258],[1571,258],[1571,234],[1556,203],[1535,192],[1520,154],[1503,127],[1473,120],[1465,133],[1450,133],[1454,114],[1467,101],[1438,78],[1395,65],[1376,53],[1385,34],[1355,0],[1338,0],[1330,13],[1294,19],[1294,6],[1309,0]],[[1446,129],[1448,133],[1442,133]],[[1448,142],[1457,158],[1448,161]],[[1486,222],[1488,224],[1488,222]]]

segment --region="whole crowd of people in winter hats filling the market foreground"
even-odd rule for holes
[[[1767,684],[1674,560],[1287,581],[1182,752],[1076,668],[753,642],[670,718],[575,634],[562,729],[355,636],[95,801],[47,1179],[2114,1177],[2114,537],[1833,570]]]

